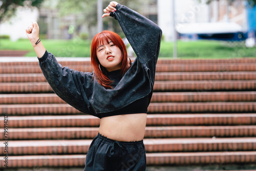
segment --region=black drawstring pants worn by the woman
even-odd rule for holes
[[[84,171],[146,170],[143,140],[120,142],[98,134],[91,143]]]

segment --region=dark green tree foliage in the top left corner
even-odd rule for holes
[[[44,0],[1,0],[0,1],[0,23],[10,19],[17,7],[39,7]]]

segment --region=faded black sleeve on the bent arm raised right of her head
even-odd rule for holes
[[[123,5],[118,4],[116,9],[111,16],[118,20],[142,67],[150,70],[154,84],[162,30],[151,20]]]

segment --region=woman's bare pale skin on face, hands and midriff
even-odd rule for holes
[[[110,16],[110,12],[116,11],[115,7],[117,4],[117,2],[111,2],[109,6],[103,10],[104,14],[102,15],[102,18]],[[32,46],[35,45],[39,38],[39,26],[37,23],[32,22],[32,24],[26,29],[26,34]],[[120,61],[118,60],[120,49],[113,46],[111,43],[108,44],[108,42],[104,42],[101,46],[103,47],[101,47],[103,49],[102,52],[96,52],[99,60],[100,57],[105,60],[110,54],[115,56],[115,59],[112,59],[111,61],[104,61],[106,63],[102,62],[101,65],[104,65],[108,71],[120,69]],[[39,58],[42,57],[46,51],[42,42],[39,42],[39,44],[34,46],[34,50]],[[98,50],[100,50],[100,47]],[[145,113],[117,115],[101,118],[99,133],[116,141],[139,141],[144,138],[145,127]]]

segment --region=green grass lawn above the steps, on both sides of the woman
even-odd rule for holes
[[[89,40],[41,40],[48,52],[57,57],[90,57],[91,42]],[[243,43],[221,41],[182,41],[177,43],[178,58],[238,58],[256,57],[256,47],[246,48]],[[20,39],[12,42],[8,39],[0,39],[0,50],[28,50],[26,56],[36,56],[28,39]],[[162,41],[160,58],[173,57],[172,42]]]

